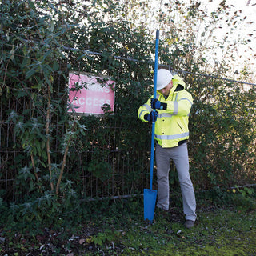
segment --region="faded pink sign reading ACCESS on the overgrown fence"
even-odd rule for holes
[[[104,114],[102,106],[107,104],[114,111],[115,82],[109,78],[90,74],[69,74],[69,103],[76,113]],[[78,90],[74,90],[74,89]],[[72,112],[69,108],[69,112]]]

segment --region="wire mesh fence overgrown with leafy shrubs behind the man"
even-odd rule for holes
[[[62,195],[73,190],[83,199],[141,194],[149,185],[150,126],[138,121],[137,110],[152,93],[154,66],[146,34],[135,36],[126,22],[115,30],[101,23],[97,27],[95,21],[94,30],[64,26],[62,13],[59,21],[48,14],[30,17],[27,6],[21,6],[19,16],[10,11],[11,19],[7,11],[15,6],[7,7],[1,27],[1,198],[19,202],[30,198],[35,187],[50,190],[62,170]],[[195,189],[254,181],[255,85],[194,73],[192,66],[190,71],[162,67],[182,74],[194,96],[189,148]],[[114,113],[68,114],[69,71],[113,78]],[[250,90],[241,93],[241,84]],[[74,124],[86,130],[76,134]],[[170,182],[178,187],[175,172]]]

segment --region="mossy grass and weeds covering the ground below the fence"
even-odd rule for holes
[[[256,211],[247,203],[254,201],[250,197],[254,193],[242,194],[236,190],[236,193],[218,191],[217,195],[212,198],[212,204],[209,204],[209,195],[198,198],[198,220],[192,230],[184,228],[182,208],[179,203],[176,206],[174,200],[169,212],[155,211],[152,225],[143,220],[141,198],[88,202],[86,205],[74,203],[70,207],[63,206],[62,214],[51,211],[54,218],[46,220],[43,220],[44,211],[40,215],[40,210],[34,209],[36,218],[40,217],[42,222],[34,222],[33,226],[30,222],[18,221],[18,217],[29,219],[29,212],[18,214],[19,206],[15,206],[12,212],[9,210],[7,222],[2,222],[0,233],[5,244],[1,248],[5,252],[9,248],[9,253],[18,250],[20,255],[29,254],[31,250],[38,254],[49,250],[53,255],[72,251],[88,256],[255,254]],[[229,198],[229,204],[223,207],[220,198],[223,202]],[[238,203],[239,199],[246,203]],[[82,214],[83,209],[86,214],[78,221],[77,215]],[[51,223],[50,228],[46,228],[48,223]]]

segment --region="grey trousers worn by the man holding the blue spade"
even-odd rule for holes
[[[194,187],[190,179],[189,157],[186,143],[171,148],[162,148],[156,145],[156,163],[158,176],[158,202],[157,207],[169,210],[169,171],[170,161],[173,160],[178,171],[178,180],[182,190],[183,212],[186,220],[195,221],[197,215]]]

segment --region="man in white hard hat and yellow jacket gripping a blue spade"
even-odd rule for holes
[[[139,107],[138,118],[142,122],[155,122],[157,207],[169,210],[169,171],[170,161],[173,160],[182,190],[183,211],[186,218],[184,225],[191,228],[197,215],[186,142],[189,138],[188,123],[193,98],[185,90],[185,86],[185,82],[178,75],[173,76],[169,70],[158,70],[157,97],[152,96]]]

